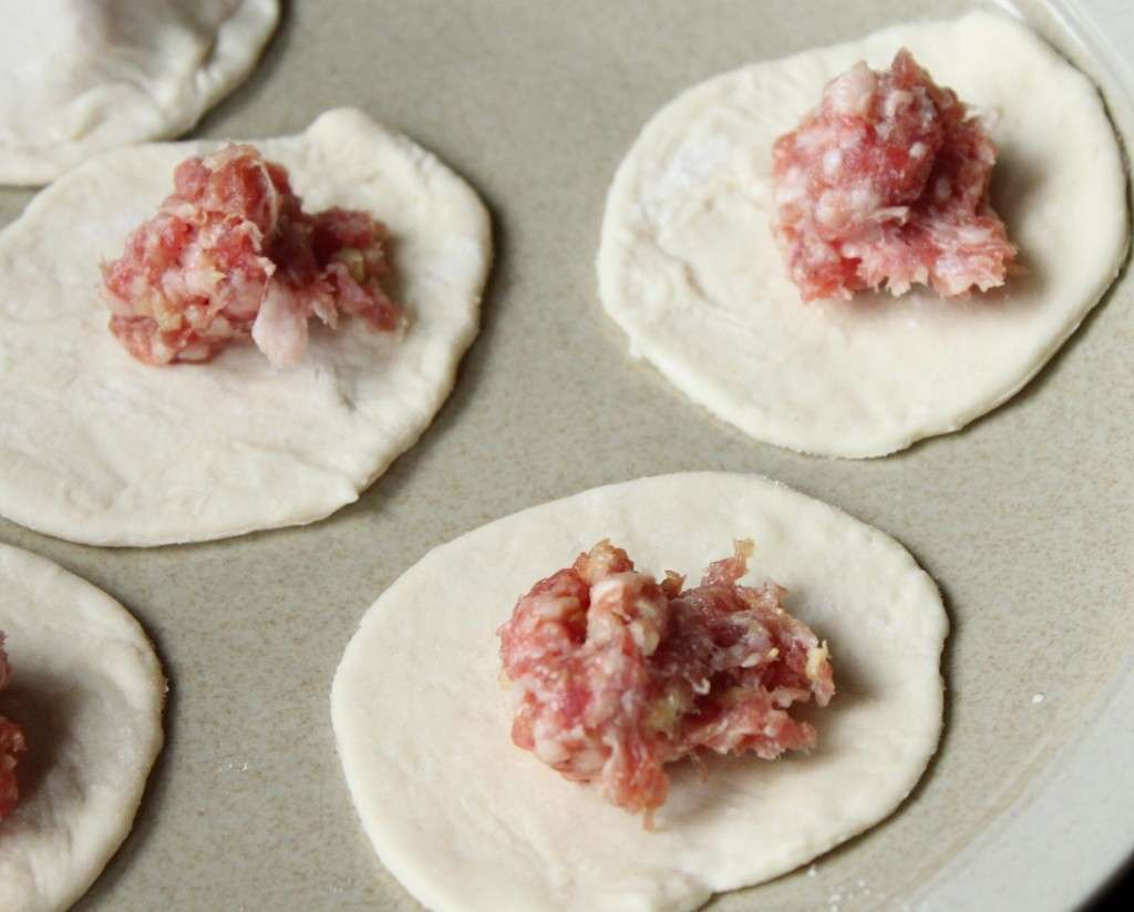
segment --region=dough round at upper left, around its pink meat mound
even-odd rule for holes
[[[93,544],[163,544],[306,523],[355,500],[429,427],[476,335],[491,260],[476,194],[355,110],[256,145],[304,205],[391,233],[403,337],[312,326],[302,362],[252,345],[152,368],[107,329],[99,261],[218,143],[118,150],[43,191],[0,235],[0,514]]]

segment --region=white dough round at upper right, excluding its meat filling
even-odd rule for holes
[[[1027,276],[967,302],[919,292],[803,304],[772,237],[771,150],[823,85],[907,47],[998,113],[992,200]],[[1019,23],[972,12],[755,64],[679,95],[607,201],[603,305],[631,352],[746,433],[881,456],[996,407],[1074,332],[1127,247],[1126,177],[1094,86]]]

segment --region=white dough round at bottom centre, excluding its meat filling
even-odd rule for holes
[[[753,538],[751,579],[830,642],[838,693],[810,755],[670,767],[657,829],[510,741],[497,627],[531,585],[609,537],[700,579]],[[335,678],[355,808],[382,862],[433,910],[686,910],[788,871],[878,822],[941,729],[937,588],[889,537],[755,475],[598,488],[428,554],[374,603]]]

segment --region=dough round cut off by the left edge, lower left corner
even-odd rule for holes
[[[130,831],[161,750],[166,682],[122,606],[42,557],[0,544],[0,715],[24,729],[20,802],[0,824],[0,909],[67,909]]]

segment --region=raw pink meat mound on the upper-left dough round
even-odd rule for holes
[[[110,331],[146,364],[209,361],[251,338],[277,365],[303,355],[311,316],[393,331],[404,316],[383,290],[387,240],[365,212],[304,212],[287,170],[249,145],[191,158],[102,267]]]

